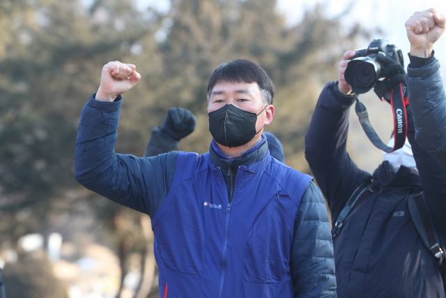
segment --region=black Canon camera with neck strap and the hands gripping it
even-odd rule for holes
[[[352,61],[345,61],[346,59]],[[356,98],[355,112],[369,140],[387,153],[403,147],[407,135],[407,88],[403,52],[393,43],[376,38],[364,49],[346,52],[338,70],[339,91],[348,91],[344,88],[344,82],[341,82],[342,77],[355,94],[364,94],[374,88],[380,100],[387,100],[392,105],[395,142],[393,147],[388,147],[371,126],[367,108]]]

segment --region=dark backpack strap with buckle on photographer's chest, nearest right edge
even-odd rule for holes
[[[443,253],[443,249],[440,247],[436,231],[433,228],[431,216],[423,199],[423,192],[420,191],[410,195],[407,203],[410,217],[413,223],[415,223],[424,246],[431,251],[438,265],[441,265],[445,253]]]

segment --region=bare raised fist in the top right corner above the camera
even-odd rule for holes
[[[412,56],[427,58],[431,56],[433,44],[445,32],[445,15],[435,8],[417,11],[406,21],[407,37]]]

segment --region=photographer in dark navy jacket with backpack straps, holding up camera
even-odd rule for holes
[[[339,81],[323,89],[305,138],[305,156],[328,201],[333,226],[355,190],[367,181],[372,183],[370,191],[364,190],[363,202],[353,207],[333,239],[337,293],[345,298],[445,297],[444,262],[439,267],[441,258],[435,258],[424,246],[409,214],[408,198],[424,191],[444,251],[446,171],[415,142],[412,103],[404,147],[385,154],[385,161],[373,175],[355,165],[346,151],[346,141],[348,114],[356,95],[344,80],[348,58],[354,54],[344,54]],[[417,68],[420,64],[413,62],[410,56],[409,75],[426,75]],[[424,59],[424,65],[427,63]],[[408,87],[409,95],[425,94],[420,84]]]

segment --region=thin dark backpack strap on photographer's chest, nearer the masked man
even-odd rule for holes
[[[332,229],[332,238],[339,236],[344,223],[354,213],[352,212],[353,209],[367,200],[367,198],[369,198],[375,191],[376,188],[370,180],[365,181],[360,186],[357,186],[351,197],[348,199],[346,206],[341,210],[341,213],[339,213],[339,216],[336,218],[336,223],[334,223],[334,227]]]

